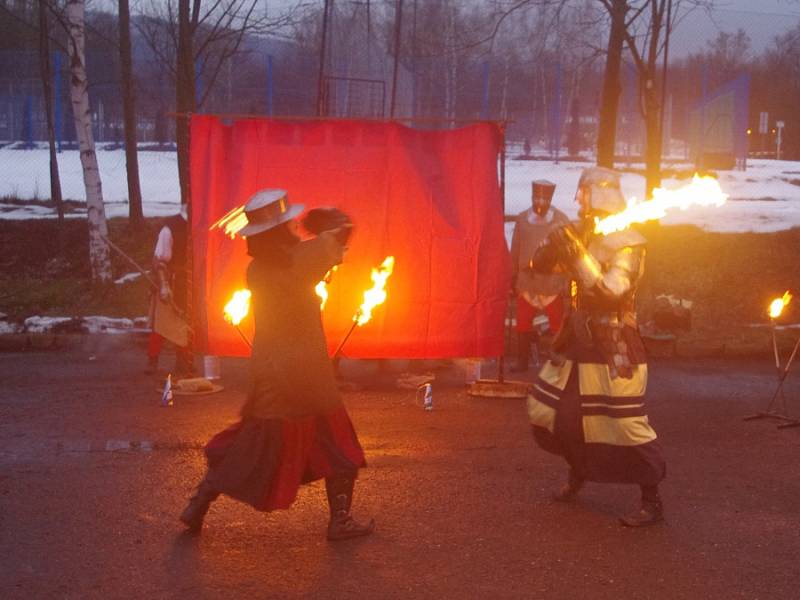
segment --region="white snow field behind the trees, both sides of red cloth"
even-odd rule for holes
[[[109,217],[128,214],[125,153],[123,150],[97,152]],[[58,155],[64,198],[84,200],[83,174],[78,152]],[[530,205],[530,183],[549,179],[557,184],[553,204],[574,217],[573,201],[581,170],[588,163],[508,160],[506,162],[506,214],[518,213]],[[139,153],[144,213],[148,217],[177,212],[179,202],[178,163],[174,152]],[[730,196],[720,208],[693,208],[662,219],[664,224],[689,223],[708,231],[778,231],[800,226],[800,162],[751,160],[747,171],[722,171],[720,184]],[[796,184],[791,183],[795,181]],[[681,185],[667,179],[665,187]],[[640,198],[644,178],[625,173],[622,186],[628,199]],[[49,158],[45,147],[33,150],[0,148],[0,198],[41,200],[49,197]],[[80,216],[81,213],[78,213]],[[0,200],[0,219],[48,218],[53,210],[38,205],[19,206]]]

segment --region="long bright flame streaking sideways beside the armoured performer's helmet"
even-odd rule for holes
[[[727,199],[728,195],[723,193],[716,179],[695,174],[688,185],[675,190],[656,188],[652,200],[637,202],[632,198],[628,208],[622,212],[603,219],[595,218],[594,232],[608,235],[627,229],[632,223],[660,219],[672,208],[686,210],[690,206],[722,206]]]

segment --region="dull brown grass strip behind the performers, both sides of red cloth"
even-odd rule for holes
[[[131,230],[126,219],[109,221],[109,235],[134,260],[150,267],[163,219],[147,219]],[[771,352],[770,332],[750,325],[768,322],[769,301],[785,290],[800,294],[800,228],[777,233],[707,233],[688,226],[643,228],[647,268],[639,314],[647,322],[659,294],[694,302],[692,329],[678,338],[683,355],[753,355]],[[0,220],[0,311],[14,320],[31,315],[102,314],[134,318],[147,314],[148,284],[138,279],[98,289],[89,277],[83,219]],[[114,277],[133,271],[112,252]],[[800,296],[782,322],[800,320]],[[779,332],[784,352],[798,330]]]

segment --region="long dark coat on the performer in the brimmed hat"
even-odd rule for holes
[[[244,418],[326,415],[342,406],[314,287],[343,253],[325,232],[295,246],[289,266],[250,263],[255,336]]]

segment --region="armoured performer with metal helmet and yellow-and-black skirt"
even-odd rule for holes
[[[584,170],[580,223],[553,232],[534,267],[567,269],[576,282],[572,310],[528,396],[534,437],[569,463],[568,502],[586,481],[641,487],[641,508],[623,517],[639,527],[663,519],[658,484],[666,464],[644,407],[647,360],[634,306],[644,272],[645,238],[632,229],[594,234],[593,219],[625,209],[619,175]]]

